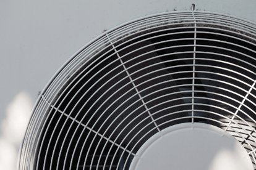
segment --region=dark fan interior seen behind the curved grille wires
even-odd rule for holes
[[[118,43],[114,44],[119,56],[125,56],[122,57],[122,62],[130,76],[112,46],[92,60],[92,65],[83,68],[87,71],[74,76],[74,83],[67,89],[61,89],[62,94],[54,105],[58,110],[49,111],[46,122],[49,126],[48,129],[43,129],[45,138],[41,139],[41,152],[37,155],[38,169],[103,169],[103,166],[105,169],[129,169],[133,158],[129,152],[135,154],[158,130],[191,121],[213,124],[225,129],[224,124],[212,119],[228,124],[229,120],[223,116],[232,118],[231,112],[236,112],[234,107],[239,107],[238,102],[247,94],[245,91],[249,91],[250,86],[244,83],[252,85],[253,81],[242,75],[256,79],[252,73],[256,70],[236,59],[255,63],[255,60],[243,55],[255,56],[249,50],[255,49],[255,46],[220,35],[236,37],[234,34],[210,28],[197,28],[193,113],[195,118],[192,120],[193,31],[194,28],[181,27],[179,30],[161,31],[133,40],[127,39],[127,42],[120,46]],[[143,41],[144,39],[147,40]],[[140,50],[134,51],[135,49]],[[131,51],[134,52],[129,54]],[[254,89],[251,93],[256,95]],[[255,100],[251,95],[248,99]],[[256,110],[249,101],[245,100],[244,103]],[[253,110],[249,108],[242,106],[241,110],[256,119]],[[63,115],[63,112],[70,117]],[[237,115],[255,127],[244,113],[238,111]],[[73,121],[73,118],[77,121]],[[249,129],[239,119],[237,123]],[[232,126],[237,131],[243,131],[236,124]],[[232,129],[228,131],[248,151],[251,150]],[[255,136],[252,130],[249,131]],[[244,137],[254,144],[245,132]],[[124,148],[129,152],[124,151]]]

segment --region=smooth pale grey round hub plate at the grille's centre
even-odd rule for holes
[[[183,123],[152,136],[137,152],[131,169],[252,170],[242,145],[222,129]]]

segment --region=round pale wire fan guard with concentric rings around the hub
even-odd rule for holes
[[[129,169],[150,137],[181,123],[229,132],[255,169],[255,33],[254,23],[198,11],[106,31],[41,92],[19,169]]]

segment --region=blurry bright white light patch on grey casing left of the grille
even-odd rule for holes
[[[25,135],[32,107],[32,99],[26,92],[17,94],[7,106],[6,118],[1,122],[0,169],[17,168],[20,142]]]

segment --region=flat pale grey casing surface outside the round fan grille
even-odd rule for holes
[[[0,169],[16,169],[38,93],[75,52],[129,20],[173,10],[220,12],[256,22],[256,1],[0,1]]]

